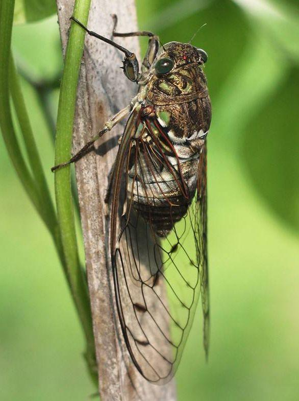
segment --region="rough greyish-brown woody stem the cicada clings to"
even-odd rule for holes
[[[73,0],[58,0],[58,16],[65,50]],[[88,27],[111,37],[112,13],[118,15],[119,32],[137,28],[134,0],[92,1]],[[136,38],[117,38],[139,56]],[[119,66],[122,54],[86,35],[84,57],[78,87],[77,111],[73,132],[73,153],[102,129],[107,119],[128,105],[136,93],[136,84],[127,80]],[[91,297],[93,329],[102,401],[176,399],[175,383],[164,386],[142,378],[124,347],[114,302],[109,255],[109,208],[104,203],[108,176],[117,152],[117,138],[123,125],[116,126],[76,164],[88,285]]]

